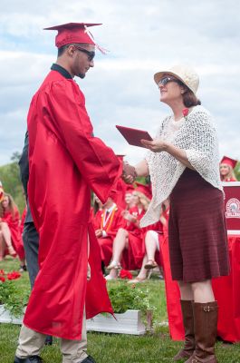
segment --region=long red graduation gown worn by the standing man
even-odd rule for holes
[[[110,148],[91,136],[77,83],[56,71],[35,93],[27,123],[28,196],[40,237],[40,270],[24,324],[44,334],[81,339],[85,304],[87,318],[112,311],[89,216],[91,190],[106,201],[121,165]],[[91,281],[87,284],[88,236]]]

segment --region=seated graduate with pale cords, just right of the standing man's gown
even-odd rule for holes
[[[104,266],[108,266],[112,256],[113,240],[123,223],[122,209],[108,198],[102,209],[96,212],[92,223],[101,248],[101,260]]]

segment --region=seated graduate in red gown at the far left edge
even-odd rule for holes
[[[0,260],[6,254],[18,255],[20,269],[25,268],[24,243],[20,231],[20,213],[10,194],[5,193],[0,203]]]

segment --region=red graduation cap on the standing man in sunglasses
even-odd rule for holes
[[[44,28],[44,30],[58,31],[55,38],[55,44],[58,48],[72,43],[94,44],[99,47],[98,44],[94,42],[93,36],[88,30],[89,26],[95,25],[101,25],[101,23],[68,23]]]

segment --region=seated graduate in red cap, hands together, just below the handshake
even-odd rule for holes
[[[137,188],[132,192],[132,201],[135,203],[129,211],[123,211],[124,224],[119,229],[113,241],[113,252],[108,270],[110,274],[106,280],[116,280],[121,264],[124,269],[137,270],[141,267],[144,257],[142,250],[143,231],[139,221],[147,211],[151,192],[148,185],[137,183]]]

